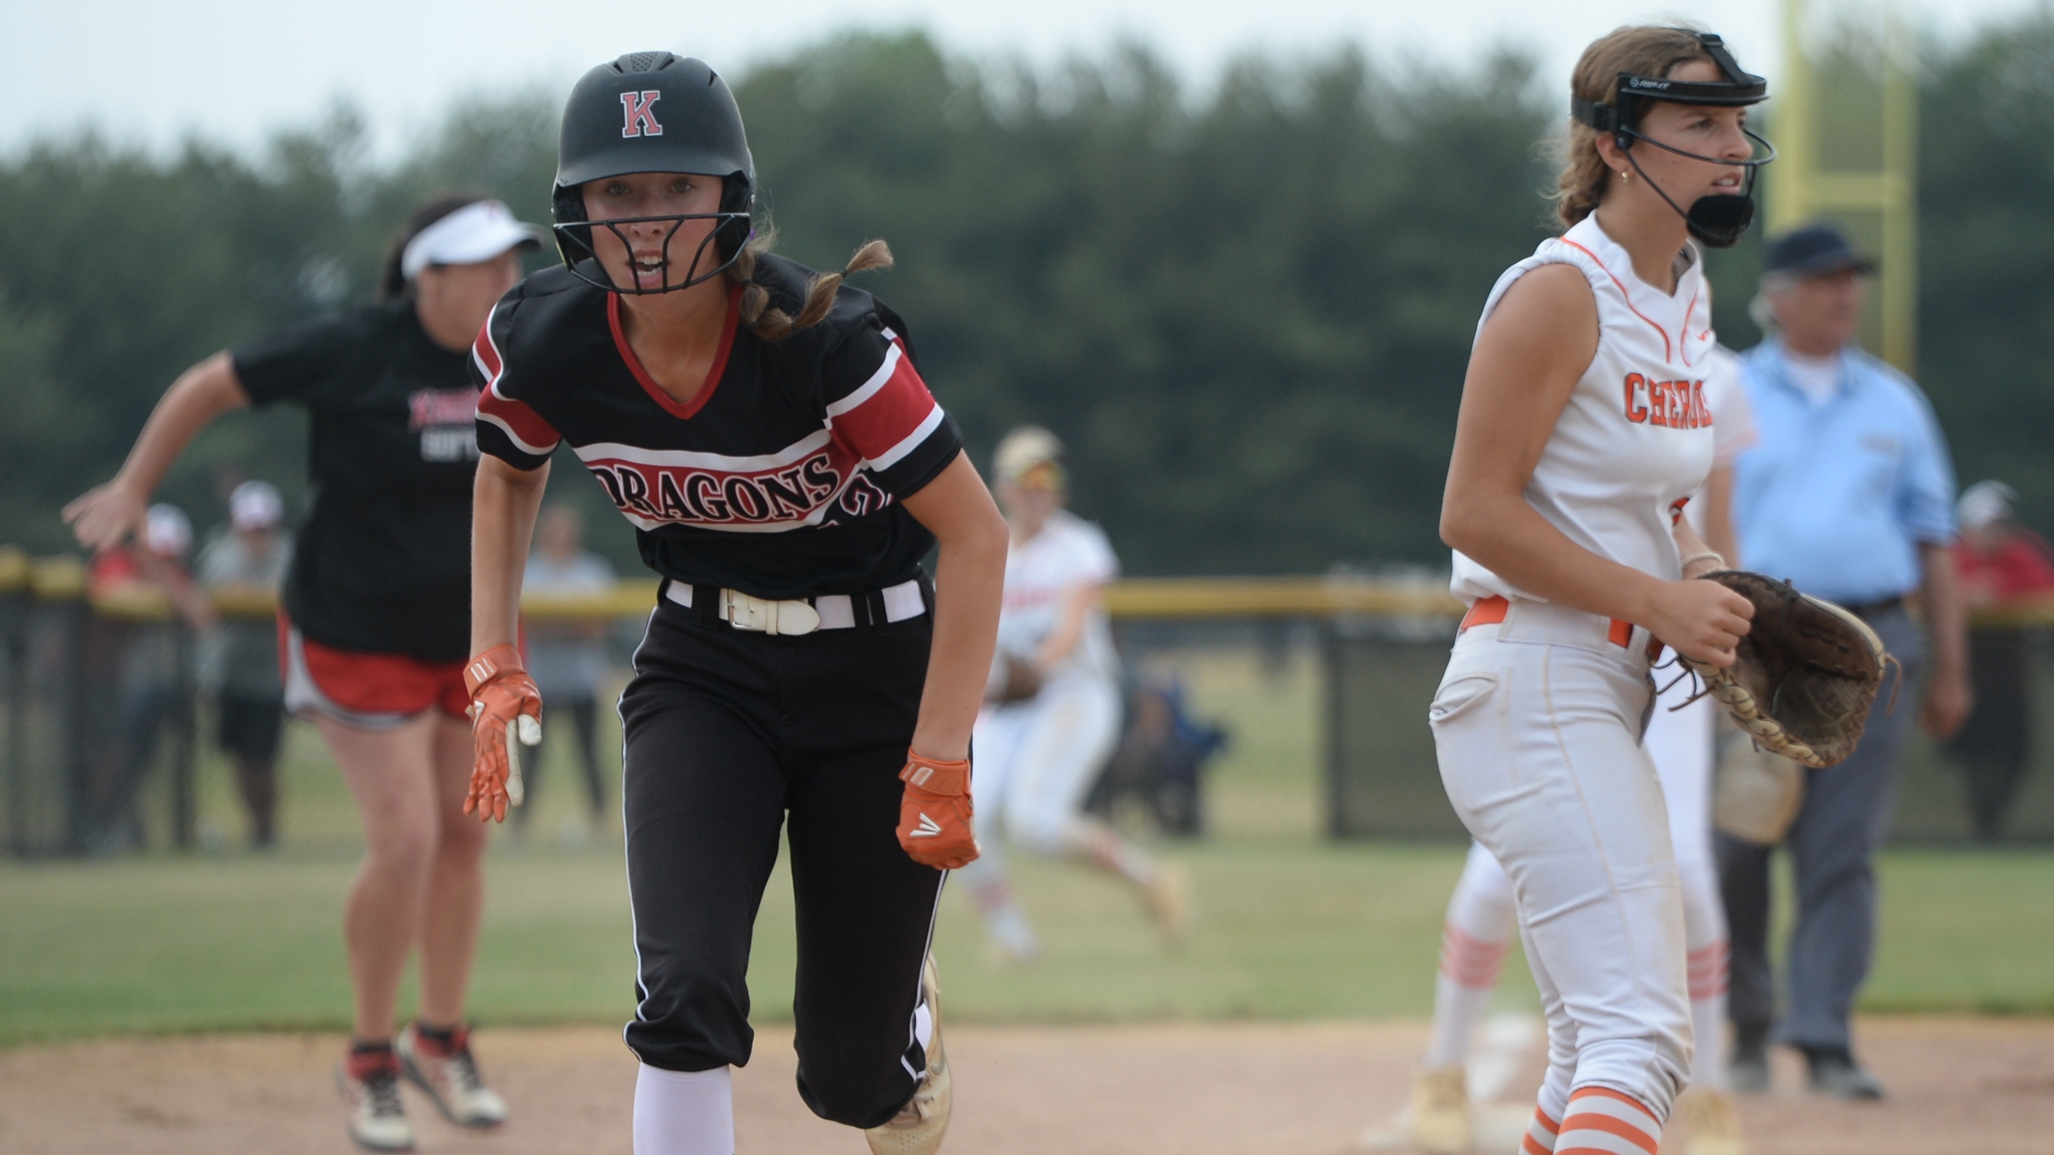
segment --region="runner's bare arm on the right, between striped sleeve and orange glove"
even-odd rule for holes
[[[935,645],[920,693],[914,752],[969,756],[969,730],[998,645],[998,598],[1006,580],[1006,522],[969,456],[957,458],[906,497],[906,512],[941,543],[935,563]]]

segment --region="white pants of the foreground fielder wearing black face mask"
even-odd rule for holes
[[[1639,742],[1647,631],[1606,631],[1516,600],[1456,639],[1428,717],[1448,802],[1518,898],[1549,1021],[1540,1110],[1610,1087],[1666,1120],[1690,1067],[1682,892]]]

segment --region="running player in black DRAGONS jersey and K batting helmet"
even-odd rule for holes
[[[871,1151],[930,1153],[951,1104],[937,867],[976,857],[969,732],[1006,528],[906,323],[842,284],[885,247],[832,275],[772,257],[750,232],[754,173],[735,99],[698,60],[637,51],[571,90],[565,265],[509,292],[477,341],[466,806],[503,818],[514,740],[540,740],[511,643],[548,458],[569,444],[663,578],[620,697],[637,1155],[735,1149],[729,1069],[750,1058],[750,933],[781,828],[799,1095]]]

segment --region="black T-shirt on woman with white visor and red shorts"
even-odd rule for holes
[[[234,349],[255,405],[312,415],[314,510],[286,612],[335,649],[462,662],[470,654],[470,483],[479,390],[413,300],[314,319]]]

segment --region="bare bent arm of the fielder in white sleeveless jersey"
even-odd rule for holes
[[[1497,302],[1462,380],[1440,536],[1520,590],[1647,627],[1727,666],[1748,600],[1709,582],[1662,582],[1569,541],[1526,504],[1540,452],[1598,349],[1598,302],[1573,265],[1543,265]]]

